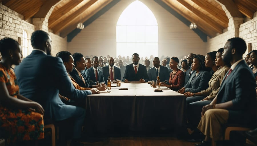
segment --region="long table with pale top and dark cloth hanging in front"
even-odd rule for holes
[[[150,84],[130,82],[112,87],[110,93],[88,95],[85,130],[91,134],[109,134],[179,129],[185,124],[186,98],[175,91],[165,91],[154,92]]]

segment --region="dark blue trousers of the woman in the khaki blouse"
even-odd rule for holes
[[[187,113],[188,113],[187,120],[188,120],[188,123],[191,124],[190,128],[192,130],[197,128],[197,125],[199,124],[199,122],[201,120],[202,107],[205,106],[205,105],[210,104],[211,102],[212,101],[205,100],[205,101],[196,101],[196,102],[189,103],[189,105],[187,106],[188,107],[188,109],[187,109]]]

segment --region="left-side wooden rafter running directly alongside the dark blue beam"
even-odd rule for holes
[[[105,7],[106,5],[108,5],[109,3],[111,3],[113,0],[101,0],[101,1],[97,1],[97,3],[101,2],[101,4],[96,5],[96,7],[90,7],[87,12],[87,16],[82,18],[82,22],[87,21],[89,18],[91,18],[94,14],[96,14],[98,11],[100,11],[103,7]],[[71,24],[69,27],[63,29],[60,32],[60,36],[61,37],[65,37],[67,36],[71,31],[73,31],[74,29],[76,29],[77,24],[79,23],[79,21]]]

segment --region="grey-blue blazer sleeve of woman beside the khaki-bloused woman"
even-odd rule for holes
[[[202,73],[199,86],[196,89],[186,88],[185,92],[187,92],[187,91],[190,91],[190,92],[193,92],[193,93],[200,92],[203,89],[206,89],[208,87],[208,82],[209,81],[210,81],[210,74],[207,71],[204,71]]]

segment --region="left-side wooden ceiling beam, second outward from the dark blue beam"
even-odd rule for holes
[[[64,30],[66,27],[68,27],[71,23],[78,23],[80,21],[80,16],[84,11],[86,11],[91,5],[93,5],[97,0],[91,0],[88,3],[86,3],[84,6],[81,7],[81,12],[76,11],[70,16],[68,16],[65,20],[61,21],[58,23],[58,25],[55,25],[53,28],[53,32],[57,34],[58,32],[61,32]]]

